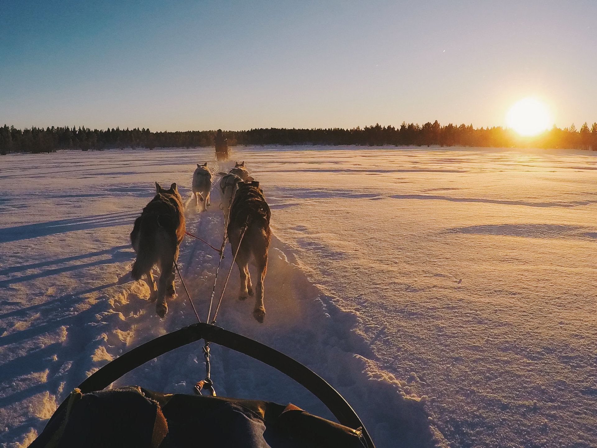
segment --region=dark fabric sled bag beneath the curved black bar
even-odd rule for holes
[[[363,448],[362,431],[293,404],[162,394],[139,386],[75,389],[30,448]]]

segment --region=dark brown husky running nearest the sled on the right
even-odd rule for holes
[[[228,223],[228,238],[232,245],[232,253],[236,255],[236,265],[241,274],[240,300],[253,295],[253,284],[249,274],[249,260],[254,257],[259,278],[257,278],[257,297],[253,308],[253,317],[263,323],[265,307],[263,306],[263,280],[267,271],[267,250],[272,238],[269,228],[271,213],[259,188],[259,182],[243,182],[238,186]],[[247,228],[242,234],[243,229]],[[241,241],[241,234],[243,235]],[[239,247],[240,243],[240,247]]]

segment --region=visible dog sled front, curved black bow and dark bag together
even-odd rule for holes
[[[293,404],[216,397],[209,370],[206,381],[212,396],[162,394],[139,386],[103,390],[147,361],[199,339],[275,367],[318,397],[340,424]],[[74,446],[374,448],[352,407],[312,370],[269,346],[206,323],[150,340],[97,370],[60,404],[30,445]]]

